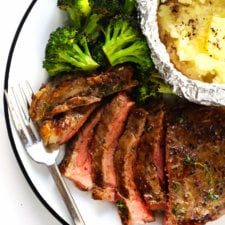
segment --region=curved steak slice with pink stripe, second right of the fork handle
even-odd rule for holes
[[[94,199],[115,201],[114,152],[134,102],[125,93],[117,94],[103,111],[92,144]]]

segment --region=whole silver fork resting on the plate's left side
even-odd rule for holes
[[[47,151],[38,133],[38,124],[30,119],[28,108],[31,101],[32,89],[28,82],[25,88],[12,88],[12,95],[6,90],[4,92],[8,109],[11,114],[15,129],[20,140],[32,160],[44,164],[48,167],[56,186],[64,200],[64,203],[72,217],[75,225],[85,225],[82,216],[74,202],[73,197],[59,171],[58,159],[60,158],[60,148],[54,151]]]

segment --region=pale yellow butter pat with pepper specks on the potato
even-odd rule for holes
[[[225,18],[212,17],[207,41],[208,55],[225,60]]]

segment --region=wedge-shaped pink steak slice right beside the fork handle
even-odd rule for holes
[[[91,190],[93,186],[90,150],[94,128],[99,122],[102,112],[102,106],[97,108],[77,135],[73,136],[67,143],[66,155],[59,167],[61,173],[83,191]]]

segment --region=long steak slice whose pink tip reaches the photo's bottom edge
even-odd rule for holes
[[[146,116],[147,112],[144,109],[132,110],[115,152],[118,196],[116,205],[124,225],[144,224],[154,220],[153,214],[137,190],[133,172],[137,146],[144,130]]]

